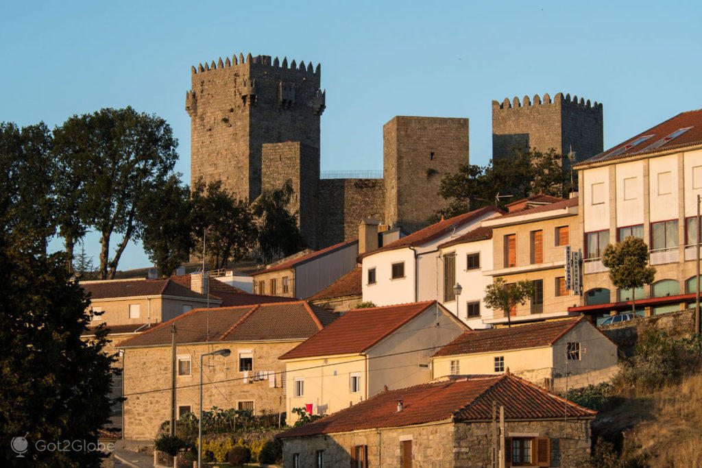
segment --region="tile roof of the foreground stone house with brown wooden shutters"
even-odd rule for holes
[[[402,399],[403,408],[398,412],[399,399]],[[283,432],[278,437],[286,439],[444,420],[489,421],[493,401],[505,407],[506,420],[562,418],[566,408],[568,417],[573,419],[590,419],[597,414],[571,401],[566,403],[560,396],[510,373],[469,375],[381,392],[321,420]]]

